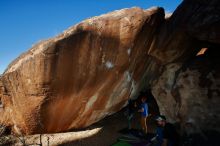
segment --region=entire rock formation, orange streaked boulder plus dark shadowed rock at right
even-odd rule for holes
[[[85,20],[11,63],[0,122],[25,134],[83,128],[151,88],[169,121],[220,131],[219,37],[218,0],[184,0],[166,18],[131,8]]]

